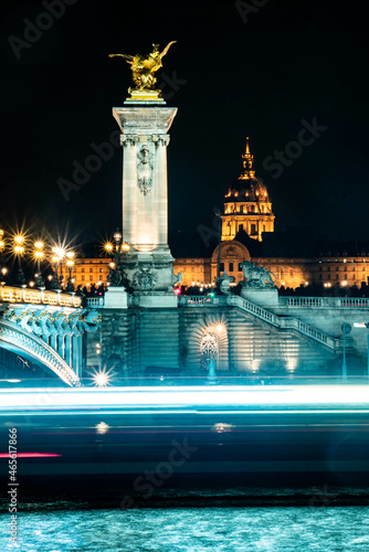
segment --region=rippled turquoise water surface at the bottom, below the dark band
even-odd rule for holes
[[[193,497],[194,498],[194,497]],[[19,542],[8,543],[3,514],[0,550],[21,552],[346,552],[369,550],[363,506],[171,506],[88,509],[67,501],[23,503]],[[217,503],[219,503],[217,501]],[[4,502],[1,502],[4,506]],[[22,505],[21,509],[22,509]]]

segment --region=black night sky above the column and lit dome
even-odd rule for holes
[[[19,52],[9,38],[24,40],[24,20],[34,23],[45,8],[2,3],[2,226],[68,229],[71,237],[98,240],[120,224],[118,148],[70,201],[56,182],[71,180],[72,163],[83,164],[92,144],[117,129],[112,107],[123,105],[130,71],[108,54],[148,53],[152,42],[177,40],[158,78],[180,81],[164,88],[168,105],[179,108],[168,150],[170,231],[211,222],[239,177],[250,136],[276,229],[313,226],[330,238],[369,240],[365,3],[250,0],[246,22],[242,2],[233,1],[67,3]],[[296,150],[289,142],[314,118],[327,128]],[[288,167],[273,178],[276,169],[267,167],[286,148],[295,158],[286,156]]]

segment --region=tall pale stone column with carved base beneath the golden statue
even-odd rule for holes
[[[143,307],[177,307],[176,276],[168,245],[168,131],[177,108],[143,102],[115,107],[123,145],[123,261],[136,301]]]

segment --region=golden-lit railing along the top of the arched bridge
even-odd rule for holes
[[[29,302],[32,305],[54,305],[81,307],[81,297],[65,291],[51,291],[30,287],[0,286],[1,302]]]

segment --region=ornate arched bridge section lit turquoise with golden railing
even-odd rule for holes
[[[1,286],[0,347],[34,362],[71,386],[81,385],[85,337],[99,315],[75,294]]]

